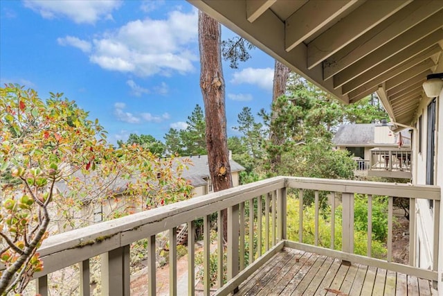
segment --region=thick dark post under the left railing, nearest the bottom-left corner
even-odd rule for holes
[[[108,252],[109,295],[129,296],[131,275],[129,273],[129,245]]]

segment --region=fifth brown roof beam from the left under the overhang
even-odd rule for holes
[[[410,28],[410,30],[395,37],[391,42],[384,44],[383,46],[379,47],[379,49],[372,51],[372,53],[366,55],[364,58],[361,58],[361,60],[352,64],[351,67],[347,67],[340,73],[337,73],[334,76],[334,87],[340,87],[341,85],[344,85],[346,82],[349,82],[356,76],[369,71],[381,62],[388,60],[397,53],[400,53],[411,44],[418,43],[417,48],[422,48],[422,46],[418,45],[424,43],[423,41],[425,37],[431,35],[431,33],[433,33],[434,31],[442,28],[442,26],[443,10],[440,10],[440,12],[432,15],[432,17],[429,17],[417,26]],[[437,43],[438,41],[443,39],[443,31],[438,31],[440,31],[440,34],[435,34],[435,39],[433,41],[430,40],[430,42]],[[412,48],[412,46],[410,47]]]

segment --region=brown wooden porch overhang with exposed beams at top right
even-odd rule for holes
[[[377,92],[408,125],[443,71],[441,0],[188,0],[344,103]]]

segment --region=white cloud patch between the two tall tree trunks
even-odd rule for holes
[[[246,68],[235,72],[230,82],[234,84],[250,84],[271,92],[273,85],[274,70],[271,68],[254,69]]]

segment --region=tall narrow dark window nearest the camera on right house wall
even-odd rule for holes
[[[436,105],[435,98],[428,105],[428,134],[426,137],[426,184],[434,184],[434,158],[435,158],[435,117],[436,117]],[[429,200],[429,207],[431,209],[434,206],[433,200]]]

